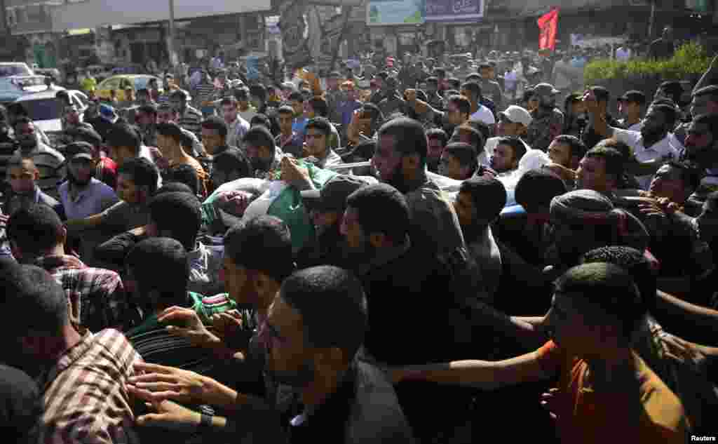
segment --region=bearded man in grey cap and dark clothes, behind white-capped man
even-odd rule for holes
[[[538,108],[531,111],[531,124],[526,131],[526,143],[533,149],[546,152],[551,140],[561,134],[564,114],[556,108],[556,95],[561,91],[549,83],[533,87],[533,96],[538,99]]]

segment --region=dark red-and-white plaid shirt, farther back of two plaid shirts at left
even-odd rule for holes
[[[103,328],[129,328],[137,321],[122,281],[116,272],[90,268],[75,256],[45,256],[38,267],[52,274],[67,294],[70,320],[90,331]]]

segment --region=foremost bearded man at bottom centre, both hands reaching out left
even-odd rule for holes
[[[327,310],[332,316],[325,315]],[[356,359],[367,323],[367,302],[350,272],[329,266],[296,272],[282,283],[259,333],[266,379],[284,385],[271,384],[272,393],[261,399],[209,378],[202,378],[202,390],[191,396],[153,393],[138,383],[130,391],[147,402],[169,397],[186,403],[191,397],[232,415],[209,417],[157,402],[159,412],[138,422],[174,429],[202,425],[203,433],[272,443],[412,443],[391,383],[376,367]],[[176,371],[159,370],[166,369]],[[149,376],[154,381],[164,375]]]

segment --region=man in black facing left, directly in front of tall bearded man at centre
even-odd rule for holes
[[[452,351],[461,353],[472,338],[472,328],[460,313],[460,292],[450,290],[449,269],[410,232],[409,214],[404,195],[390,185],[376,184],[352,193],[342,218],[348,264],[362,282],[369,306],[363,354],[390,365],[439,362]],[[446,297],[432,298],[429,306],[418,303],[437,292]],[[440,328],[426,325],[427,309],[441,320]],[[397,317],[402,319],[401,329],[396,328]],[[426,343],[442,346],[427,348]],[[397,394],[418,436],[434,438],[467,419],[467,406],[459,402],[466,397],[455,391],[406,384],[397,387]],[[432,404],[420,399],[432,399]]]

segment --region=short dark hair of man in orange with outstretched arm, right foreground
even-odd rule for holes
[[[556,293],[583,297],[617,318],[625,341],[630,341],[646,313],[633,278],[614,264],[595,262],[573,267],[556,279],[555,287]]]

